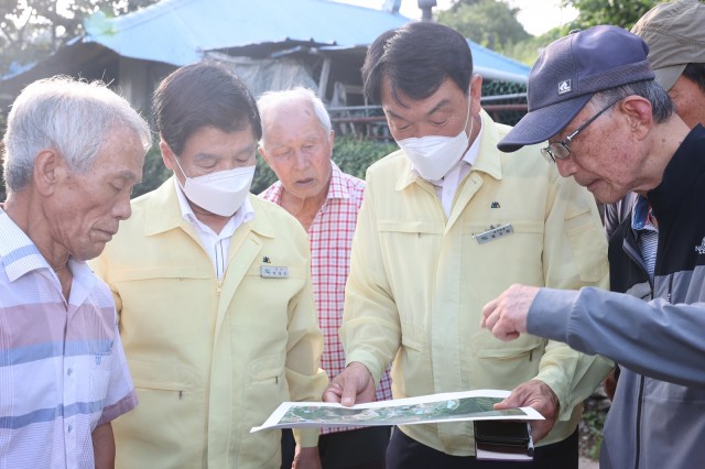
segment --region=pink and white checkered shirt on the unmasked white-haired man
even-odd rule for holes
[[[318,325],[325,338],[321,367],[328,378],[345,369],[345,351],[338,337],[343,321],[345,283],[350,272],[350,248],[362,204],[365,181],[343,173],[333,163],[328,196],[308,229],[311,240],[311,276],[313,294],[318,308]],[[282,183],[272,184],[260,194],[265,200],[281,205]],[[377,400],[392,399],[389,369],[377,388]],[[335,433],[357,427],[322,428],[321,433]]]

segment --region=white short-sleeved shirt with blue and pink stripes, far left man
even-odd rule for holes
[[[68,302],[0,209],[0,467],[94,468],[90,434],[137,405],[112,294],[69,260]]]

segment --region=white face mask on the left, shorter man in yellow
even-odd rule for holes
[[[254,165],[188,177],[176,156],[174,156],[174,161],[186,178],[183,185],[178,183],[184,195],[188,200],[212,214],[230,217],[238,211],[250,193],[252,177],[254,177]]]

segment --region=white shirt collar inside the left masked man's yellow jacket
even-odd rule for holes
[[[200,240],[200,246],[203,246],[203,249],[208,253],[208,257],[213,262],[213,266],[216,270],[216,274],[218,275],[218,280],[220,281],[223,280],[225,269],[228,265],[230,238],[242,223],[247,223],[254,218],[252,204],[250,204],[250,200],[246,197],[245,203],[242,203],[242,207],[240,207],[238,211],[230,217],[226,226],[223,227],[219,233],[217,233],[212,230],[210,227],[196,218],[196,215],[191,208],[191,205],[188,205],[188,200],[178,185],[176,177],[174,177],[174,184],[176,185],[176,196],[178,197],[181,215],[184,220],[189,222],[196,229],[196,233]]]

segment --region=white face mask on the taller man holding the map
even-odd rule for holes
[[[426,181],[437,181],[444,177],[455,166],[467,150],[470,140],[465,133],[467,121],[470,118],[470,99],[467,105],[465,126],[455,137],[427,135],[400,140],[399,148],[404,151],[414,165],[414,170]],[[470,124],[470,135],[473,134]]]

